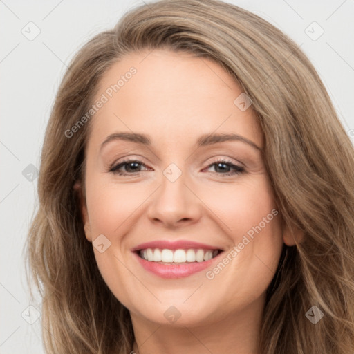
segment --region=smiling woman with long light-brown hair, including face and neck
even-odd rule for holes
[[[216,0],[131,10],[48,122],[28,236],[46,351],[353,352],[353,166],[277,28]]]

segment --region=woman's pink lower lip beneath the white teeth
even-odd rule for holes
[[[134,254],[145,270],[167,279],[189,277],[189,275],[201,272],[212,265],[214,259],[218,258],[220,255],[218,254],[216,257],[209,259],[209,261],[167,265],[158,262],[145,261],[145,259],[139,257],[137,253],[134,252]]]

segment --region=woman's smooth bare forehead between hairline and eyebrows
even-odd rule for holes
[[[100,80],[94,101],[104,97],[104,104],[93,117],[91,138],[136,131],[177,146],[201,133],[234,132],[261,146],[252,106],[241,111],[234,103],[241,93],[211,59],[171,50],[131,53]]]

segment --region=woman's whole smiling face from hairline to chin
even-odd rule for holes
[[[95,102],[106,100],[86,145],[86,238],[132,318],[218,322],[263,304],[279,263],[263,134],[221,66],[148,54],[124,57],[100,82]]]

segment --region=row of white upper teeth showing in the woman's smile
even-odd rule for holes
[[[218,250],[202,250],[192,249],[188,250],[178,249],[169,250],[164,248],[160,250],[158,248],[147,248],[140,251],[140,256],[149,262],[164,262],[164,263],[186,263],[186,262],[203,262],[209,261],[218,255]]]

